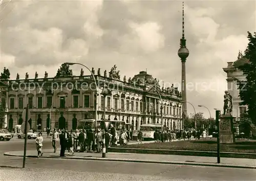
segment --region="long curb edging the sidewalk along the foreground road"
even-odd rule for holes
[[[23,155],[4,153],[5,156],[23,157]],[[37,158],[35,155],[27,155],[26,157]],[[239,165],[226,165],[217,163],[196,163],[196,162],[176,162],[176,161],[153,161],[153,160],[138,160],[138,159],[115,159],[115,158],[102,158],[102,157],[58,157],[58,156],[40,156],[44,159],[70,159],[70,160],[96,160],[96,161],[114,161],[114,162],[135,162],[135,163],[151,163],[151,164],[172,164],[172,165],[192,165],[192,166],[208,166],[208,167],[226,167],[226,168],[245,168],[256,169],[256,166],[239,166]],[[1,167],[1,166],[0,166]],[[16,167],[13,167],[16,168]]]

